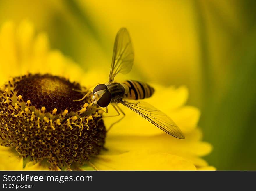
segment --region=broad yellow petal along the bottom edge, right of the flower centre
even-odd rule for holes
[[[149,151],[134,151],[120,155],[99,155],[91,163],[97,170],[195,170],[182,157]]]

